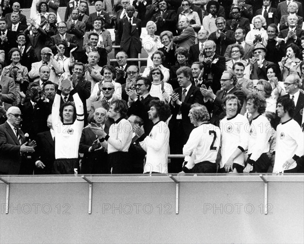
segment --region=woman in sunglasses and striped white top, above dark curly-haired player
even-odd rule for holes
[[[169,103],[173,88],[169,83],[164,82],[164,74],[160,67],[152,68],[148,77],[152,81],[149,94],[158,97],[161,101]]]

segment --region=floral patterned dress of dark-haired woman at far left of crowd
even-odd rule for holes
[[[22,66],[20,63],[13,66],[10,64],[3,69],[2,74],[9,76],[15,80],[16,85],[16,100],[12,103],[13,106],[17,106],[20,104],[21,96],[20,92],[26,92],[28,82],[28,71],[25,66]]]

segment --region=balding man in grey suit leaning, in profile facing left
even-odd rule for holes
[[[179,28],[181,29],[180,35],[173,36],[173,42],[179,46],[189,50],[195,44],[195,31],[189,26],[190,21],[186,16],[179,19]]]

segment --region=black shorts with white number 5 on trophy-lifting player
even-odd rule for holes
[[[74,175],[80,172],[78,158],[58,158],[55,159],[52,173],[55,175]]]

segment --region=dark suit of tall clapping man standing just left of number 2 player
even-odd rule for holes
[[[174,92],[179,94],[179,100],[181,101],[181,94],[183,88],[177,88]],[[169,130],[170,130],[170,153],[171,154],[182,154],[183,145],[187,142],[190,133],[194,129],[194,125],[191,124],[189,119],[190,107],[194,103],[204,104],[204,98],[200,91],[200,88],[191,86],[187,95],[182,102],[181,106],[177,104],[175,107],[169,103],[171,108],[172,117],[169,121]],[[182,119],[176,119],[178,112],[181,112]],[[169,173],[178,173],[181,171],[183,159],[171,159],[171,163],[168,165]]]

